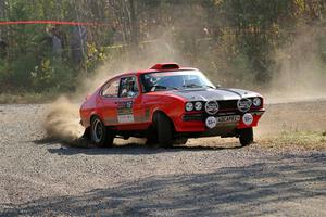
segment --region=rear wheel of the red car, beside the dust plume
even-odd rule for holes
[[[97,146],[111,146],[114,137],[113,131],[105,127],[99,117],[91,118],[90,139]]]

